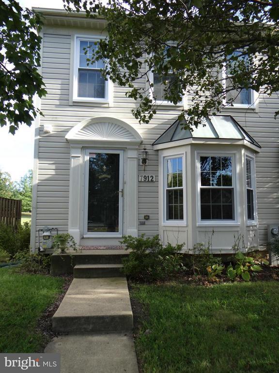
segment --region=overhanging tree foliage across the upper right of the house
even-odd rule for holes
[[[85,10],[88,17],[108,20],[108,37],[100,41],[95,60],[105,58],[103,73],[127,85],[128,97],[140,99],[134,115],[141,122],[149,122],[156,106],[149,90],[136,82],[144,77],[150,83],[152,71],[163,80],[170,73],[177,77],[167,85],[166,100],[181,102],[185,91],[192,97],[181,115],[190,127],[220,111],[230,91],[279,91],[279,0],[64,2],[68,11]],[[225,65],[232,75],[227,86],[221,73]]]

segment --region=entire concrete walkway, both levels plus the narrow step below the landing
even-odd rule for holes
[[[114,268],[111,273],[119,271],[116,264],[106,267],[109,271]],[[127,280],[95,278],[109,275],[108,268],[76,265],[74,276],[78,278],[74,278],[52,318],[55,331],[70,333],[54,338],[45,349],[46,353],[61,355],[61,373],[139,372]],[[86,278],[80,278],[82,275]]]

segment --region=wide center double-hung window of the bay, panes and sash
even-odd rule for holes
[[[233,156],[200,156],[200,220],[235,220]]]

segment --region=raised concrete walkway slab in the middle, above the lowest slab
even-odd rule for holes
[[[125,277],[74,278],[52,318],[60,333],[131,331],[133,313]]]

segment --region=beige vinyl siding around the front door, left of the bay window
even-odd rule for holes
[[[94,34],[94,32],[92,32]],[[36,229],[44,225],[58,227],[59,231],[68,229],[68,198],[70,146],[65,140],[68,131],[80,121],[107,113],[128,121],[139,131],[144,141],[140,150],[146,147],[149,152],[147,174],[154,174],[155,183],[139,183],[139,234],[154,236],[158,233],[158,154],[153,151],[152,143],[175,120],[179,112],[173,106],[164,106],[158,111],[151,124],[139,124],[132,116],[131,109],[137,106],[125,96],[126,88],[114,85],[113,106],[108,104],[74,102],[70,105],[71,45],[74,34],[84,34],[83,30],[56,28],[55,33],[45,27],[43,38],[42,74],[47,86],[47,96],[41,101],[44,117],[40,121],[38,198]],[[145,80],[137,86],[145,87]],[[52,133],[43,131],[44,124],[52,125]],[[139,173],[143,173],[140,165]],[[143,216],[149,215],[149,220]]]

